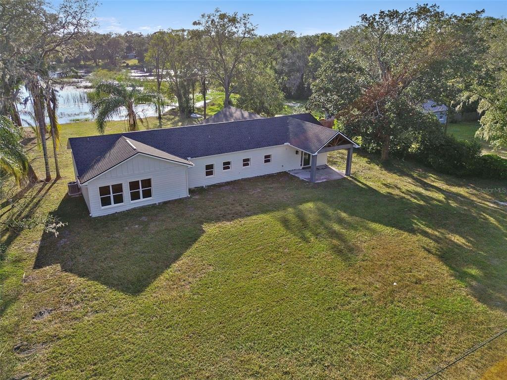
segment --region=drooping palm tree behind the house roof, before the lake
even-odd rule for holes
[[[105,125],[115,115],[121,115],[123,109],[127,110],[125,119],[128,122],[128,131],[137,130],[137,121],[142,123],[139,113],[134,105],[152,103],[155,94],[143,92],[135,84],[118,82],[100,82],[92,94],[91,112],[95,117],[97,130],[104,133]]]

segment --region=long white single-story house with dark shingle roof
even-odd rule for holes
[[[227,112],[227,111],[226,111]],[[189,188],[309,168],[358,145],[310,113],[72,137],[76,181],[90,216],[189,196]]]

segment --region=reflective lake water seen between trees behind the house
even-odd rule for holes
[[[153,79],[150,74],[142,71],[131,71],[131,77],[136,79]],[[88,102],[87,93],[93,91],[90,89],[90,83],[83,79],[74,81],[72,85],[66,85],[62,89],[58,89],[58,122],[60,124],[72,123],[78,121],[94,120],[93,115],[90,112],[90,103]],[[28,97],[27,92],[23,88],[20,93],[21,99]],[[24,103],[24,102],[23,102]],[[31,101],[28,100],[26,104],[18,104],[18,110],[23,122],[23,126],[34,125],[33,107]],[[176,107],[177,104],[164,107],[164,111]],[[150,116],[157,116],[157,110],[154,105],[150,104],[138,104],[134,107],[135,111],[138,112],[139,117],[145,118]],[[114,115],[111,120],[124,120],[127,116],[125,109],[121,110],[121,113]],[[49,121],[48,121],[49,122]]]

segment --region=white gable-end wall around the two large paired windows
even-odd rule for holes
[[[148,178],[152,180],[152,198],[131,202],[129,181]],[[98,188],[116,183],[123,185],[123,204],[102,208]],[[85,187],[88,191],[90,215],[112,214],[134,207],[188,197],[187,166],[137,155],[97,178],[91,179],[86,186],[82,186],[82,188]]]

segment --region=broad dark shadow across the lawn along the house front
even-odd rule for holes
[[[88,216],[82,198],[65,197],[54,214],[68,225],[57,238],[43,235],[34,268],[59,263],[64,271],[135,295],[197,242],[208,223],[270,214],[287,234],[310,244],[324,242],[345,264],[361,254],[360,238],[374,236],[376,223],[436,243],[437,250],[428,248],[429,253],[477,299],[507,311],[501,281],[507,261],[500,254],[507,213],[416,174],[396,175],[399,183],[381,187],[358,178],[308,184],[277,174],[98,218]]]

